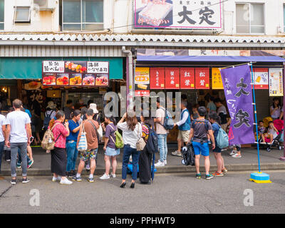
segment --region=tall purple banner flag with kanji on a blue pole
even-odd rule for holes
[[[225,68],[220,72],[229,115],[232,118],[229,145],[254,143],[252,75],[249,65]]]

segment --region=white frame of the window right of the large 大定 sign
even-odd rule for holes
[[[249,33],[239,33],[237,32],[237,5],[238,4],[247,4],[249,5]],[[251,7],[253,5],[262,5],[263,6],[263,26],[252,26],[252,16],[251,16]],[[236,31],[236,34],[239,34],[239,35],[264,35],[266,33],[266,21],[265,21],[265,3],[264,2],[240,2],[240,1],[237,1],[234,5],[235,7],[235,31]],[[262,27],[264,28],[263,29],[263,32],[261,33],[252,33],[252,27]]]

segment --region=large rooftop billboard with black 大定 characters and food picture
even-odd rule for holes
[[[222,28],[221,0],[134,0],[135,28]]]

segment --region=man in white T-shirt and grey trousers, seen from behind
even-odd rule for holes
[[[21,111],[22,102],[19,99],[13,101],[14,112],[6,117],[6,145],[11,147],[11,184],[16,184],[16,160],[18,150],[22,158],[22,182],[29,182],[27,178],[27,145],[30,145],[31,119],[27,113]],[[10,136],[10,140],[9,140]]]

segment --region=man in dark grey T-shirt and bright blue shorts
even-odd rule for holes
[[[207,114],[207,109],[202,107],[198,108],[199,118],[192,121],[189,142],[193,138],[193,149],[195,153],[195,166],[196,166],[196,177],[201,179],[201,174],[199,172],[199,160],[200,155],[204,156],[204,166],[206,170],[206,179],[212,179],[213,175],[209,174],[209,145],[208,145],[208,135],[212,141],[212,148],[214,150],[214,135],[212,130],[212,125],[204,117]]]

